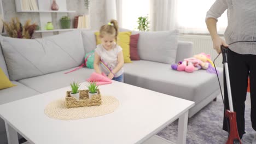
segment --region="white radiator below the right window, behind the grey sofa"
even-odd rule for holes
[[[197,53],[205,52],[206,54],[211,55],[212,62],[214,58],[217,57],[217,52],[213,49],[212,39],[210,35],[190,35],[190,34],[181,34],[179,35],[179,40],[182,41],[191,41],[193,42],[193,55]],[[223,67],[222,64],[222,55],[218,57],[215,61],[216,67]]]

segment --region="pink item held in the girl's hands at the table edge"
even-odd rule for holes
[[[92,73],[89,79],[87,81],[90,82],[96,82],[96,85],[106,85],[112,83],[112,80],[110,80],[104,73],[98,74],[98,73]]]

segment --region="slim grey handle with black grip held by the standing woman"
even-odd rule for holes
[[[227,49],[227,47],[224,47],[222,45],[222,46],[220,46],[220,50],[222,50],[223,63],[224,63],[224,68],[225,68],[226,87],[228,89],[228,98],[229,98],[229,110],[231,112],[234,112],[231,87],[230,87],[230,79],[229,79],[229,66],[228,66],[228,53],[227,53],[229,49]]]

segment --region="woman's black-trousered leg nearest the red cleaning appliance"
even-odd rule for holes
[[[248,80],[248,55],[240,55],[228,50],[229,77],[234,111],[236,112],[237,129],[240,138],[245,134],[245,100]],[[224,101],[226,109],[229,110],[228,92],[226,87],[226,76],[224,69]],[[228,120],[229,121],[229,120]],[[223,129],[228,131],[225,114]]]

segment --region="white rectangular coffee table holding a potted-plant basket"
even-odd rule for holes
[[[170,143],[155,134],[176,119],[177,143],[185,143],[188,110],[194,106],[193,101],[115,81],[99,88],[103,95],[116,97],[120,103],[113,113],[100,117],[61,121],[46,116],[45,106],[64,98],[69,87],[0,105],[9,143],[18,144],[17,131],[29,143],[38,144]]]

